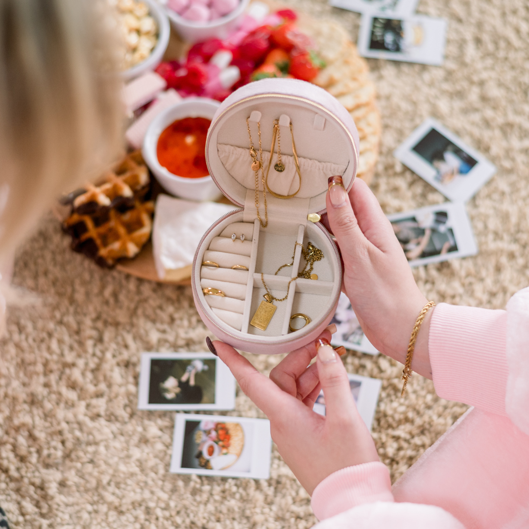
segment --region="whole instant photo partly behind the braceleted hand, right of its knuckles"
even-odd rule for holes
[[[462,203],[445,202],[388,218],[412,267],[478,253]]]

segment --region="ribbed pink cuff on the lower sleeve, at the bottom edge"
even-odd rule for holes
[[[373,461],[342,468],[327,476],[312,493],[312,510],[324,520],[373,501],[394,501],[389,470]]]

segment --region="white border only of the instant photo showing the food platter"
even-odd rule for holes
[[[226,415],[198,415],[193,413],[175,414],[175,430],[172,440],[172,453],[169,472],[174,474],[195,474],[197,476],[221,476],[224,478],[268,479],[272,458],[272,436],[270,421],[250,417],[232,417]],[[182,467],[182,451],[184,449],[184,433],[186,421],[225,421],[241,425],[252,424],[252,455],[249,472],[230,472],[226,470],[208,470]]]

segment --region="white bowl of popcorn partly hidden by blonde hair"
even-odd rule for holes
[[[156,68],[169,43],[171,28],[156,0],[113,0],[118,24],[123,32],[123,71],[125,80],[134,79]]]

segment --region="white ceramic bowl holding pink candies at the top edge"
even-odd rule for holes
[[[183,19],[178,13],[166,7],[167,16],[181,38],[194,44],[208,39],[227,39],[239,27],[239,22],[250,0],[241,0],[235,9],[220,19],[211,22],[193,22]]]

